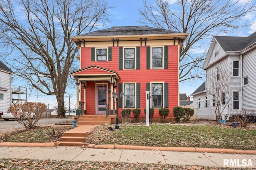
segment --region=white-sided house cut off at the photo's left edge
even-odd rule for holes
[[[12,105],[12,70],[0,61],[0,113]]]

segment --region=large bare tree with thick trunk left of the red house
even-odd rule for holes
[[[0,0],[1,57],[34,89],[55,95],[65,117],[64,94],[78,48],[69,38],[105,26],[104,0]],[[77,69],[77,68],[76,68]]]

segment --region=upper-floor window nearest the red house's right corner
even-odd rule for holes
[[[162,47],[152,47],[152,68],[163,68]]]

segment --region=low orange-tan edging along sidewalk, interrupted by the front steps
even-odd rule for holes
[[[1,142],[0,147],[54,147],[54,142],[49,143],[17,143]],[[208,152],[208,153],[228,153],[228,154],[256,154],[256,150],[218,149],[218,148],[193,148],[193,147],[145,147],[134,145],[95,145],[88,144],[88,148],[95,149],[130,149],[130,150],[161,150],[172,152]]]

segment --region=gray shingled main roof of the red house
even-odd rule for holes
[[[167,29],[154,28],[149,26],[125,26],[125,27],[111,27],[90,33],[77,35],[76,37],[87,36],[108,36],[108,35],[147,35],[147,34],[169,34],[180,33],[170,31]]]

